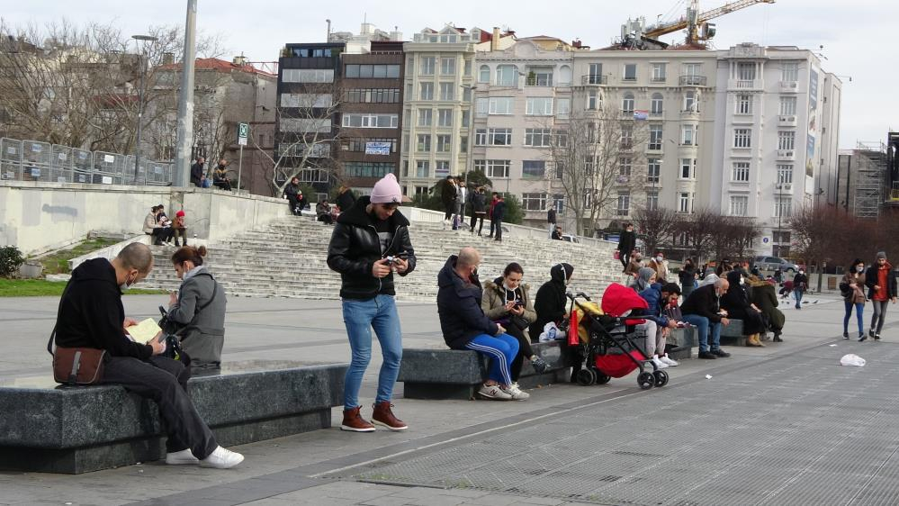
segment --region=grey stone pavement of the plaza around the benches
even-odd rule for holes
[[[129,315],[153,316],[164,297],[125,301]],[[0,299],[0,384],[46,374],[55,306]],[[785,312],[786,342],[685,361],[661,389],[640,391],[631,375],[534,389],[527,402],[399,398],[403,433],[341,432],[335,409],[332,429],[236,448],[247,460],[235,469],[0,473],[0,504],[899,503],[899,309],[879,343],[839,339],[833,299]],[[401,304],[400,315],[407,347],[441,345],[434,304]],[[333,301],[234,298],[227,327],[226,359],[348,357]],[[868,366],[839,366],[850,352]],[[379,363],[376,349],[367,402]]]

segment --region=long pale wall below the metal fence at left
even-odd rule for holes
[[[0,182],[0,245],[33,255],[85,239],[92,230],[142,233],[150,207],[184,209],[188,233],[224,239],[288,213],[281,199],[166,186]]]

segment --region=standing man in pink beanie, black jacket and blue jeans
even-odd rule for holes
[[[340,213],[328,245],[328,267],[339,272],[342,281],[340,298],[353,352],[344,382],[343,430],[374,430],[359,414],[359,389],[372,358],[372,328],[383,356],[372,420],[387,429],[407,429],[391,411],[393,384],[400,374],[402,358],[393,273],[406,276],[415,269],[409,221],[397,211],[401,200],[396,177],[384,176],[375,183],[370,197],[359,197],[353,207]]]

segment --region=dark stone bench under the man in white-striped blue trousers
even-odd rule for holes
[[[534,353],[543,358],[548,367],[537,374],[525,360],[518,384],[532,388],[538,384],[568,382],[571,363],[562,354],[560,343],[547,342],[531,345]],[[403,396],[409,399],[463,399],[474,398],[474,393],[487,377],[488,358],[475,351],[448,348],[403,348],[400,377]]]

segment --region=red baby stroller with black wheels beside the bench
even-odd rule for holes
[[[601,309],[585,294],[567,294],[571,299],[571,323],[577,325],[580,346],[586,348],[586,366],[578,372],[579,384],[607,384],[640,369],[637,384],[643,390],[668,384],[668,373],[652,363],[636,344],[634,327],[648,304],[634,290],[613,283],[602,297]],[[585,299],[588,303],[581,303]],[[577,318],[577,320],[575,320]],[[575,323],[577,321],[577,323]],[[652,373],[646,370],[652,366]]]

